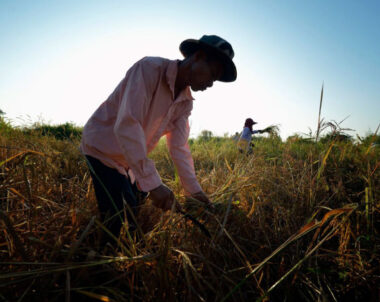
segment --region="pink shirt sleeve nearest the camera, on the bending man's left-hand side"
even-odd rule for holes
[[[145,192],[162,184],[154,162],[147,157],[146,138],[142,128],[158,78],[158,70],[143,61],[128,71],[114,126],[124,158]]]

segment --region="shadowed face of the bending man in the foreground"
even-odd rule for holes
[[[218,61],[206,61],[205,56],[200,56],[192,64],[189,85],[193,91],[206,90],[220,78],[222,72],[222,63]]]

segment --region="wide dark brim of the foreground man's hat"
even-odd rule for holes
[[[237,72],[234,62],[229,56],[224,52],[220,51],[218,48],[210,46],[202,41],[195,39],[187,39],[181,43],[179,50],[182,55],[187,58],[197,52],[200,49],[205,49],[211,52],[214,52],[220,62],[223,64],[223,75],[218,79],[221,82],[233,82],[236,80]]]

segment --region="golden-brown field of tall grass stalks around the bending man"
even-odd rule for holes
[[[190,141],[215,204],[186,200],[165,142],[150,155],[211,238],[148,200],[140,240],[103,227],[80,135],[0,126],[0,301],[379,301],[379,136]]]

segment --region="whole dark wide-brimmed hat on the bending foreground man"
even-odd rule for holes
[[[219,81],[233,82],[236,80],[236,67],[232,61],[234,50],[230,43],[215,35],[204,35],[199,40],[187,39],[179,46],[179,50],[185,58],[200,49],[215,53],[216,57],[223,63],[224,72]]]

